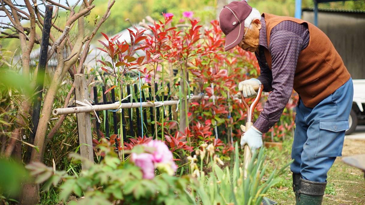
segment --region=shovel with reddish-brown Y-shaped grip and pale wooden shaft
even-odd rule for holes
[[[254,90],[257,92],[257,96],[250,107],[249,107],[249,105],[247,105],[247,102],[246,102],[245,98],[243,97],[243,93],[241,91],[241,100],[242,100],[243,105],[245,105],[245,107],[247,109],[246,126],[241,125],[241,130],[243,132],[246,132],[246,130],[248,130],[253,125],[253,111],[254,111],[258,101],[261,98],[261,93],[262,93],[263,89],[264,89],[264,86],[262,84],[259,84],[257,87],[254,87]],[[241,135],[241,138],[242,138],[242,136],[243,136],[243,134]],[[241,146],[241,149],[244,149],[244,152],[243,152],[243,178],[246,179],[247,178],[247,167],[250,163],[252,155],[251,155],[250,147],[247,144],[245,144],[244,146]]]

